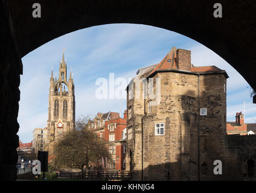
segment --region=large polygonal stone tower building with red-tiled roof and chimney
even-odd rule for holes
[[[213,168],[208,136],[226,133],[226,78],[216,66],[192,65],[191,52],[174,47],[138,70],[127,86],[126,169],[133,179],[203,179]]]

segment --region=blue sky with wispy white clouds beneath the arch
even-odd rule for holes
[[[108,80],[109,73],[118,77],[135,77],[139,68],[159,63],[170,49],[191,50],[195,66],[215,65],[228,72],[227,120],[234,121],[236,112],[246,103],[246,122],[256,122],[256,106],[249,96],[249,84],[219,55],[181,34],[138,24],[110,24],[85,28],[45,43],[22,58],[21,101],[19,102],[19,138],[33,139],[34,128],[43,128],[48,119],[48,93],[53,66],[59,72],[59,61],[65,48],[65,59],[74,73],[76,118],[95,116],[97,112],[123,112],[126,100],[95,98],[97,78]]]

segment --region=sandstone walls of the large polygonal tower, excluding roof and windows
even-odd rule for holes
[[[225,158],[225,75],[161,72],[153,77],[154,85],[156,78],[161,79],[161,101],[152,106],[152,112],[149,101],[156,100],[150,95],[140,103],[132,102],[135,115],[130,125],[136,132],[130,142],[135,148],[130,169],[138,173],[143,168],[144,180],[219,180],[213,174],[213,162]],[[200,108],[207,108],[206,116],[199,115]],[[164,135],[156,135],[155,125],[161,123]],[[202,176],[203,164],[209,170],[206,177]]]

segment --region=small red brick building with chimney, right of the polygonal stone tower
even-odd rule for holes
[[[227,134],[247,134],[247,124],[245,124],[245,116],[242,112],[235,115],[235,122],[226,122],[226,133]]]

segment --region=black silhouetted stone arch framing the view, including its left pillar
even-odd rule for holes
[[[202,43],[231,64],[256,90],[255,1],[221,1],[223,18],[213,17],[216,1],[201,0],[106,0],[37,1],[42,17],[31,16],[31,1],[0,1],[1,115],[4,152],[0,179],[16,178],[17,121],[21,58],[56,37],[95,25],[145,24],[188,36]],[[245,16],[246,10],[246,16]],[[9,88],[9,85],[12,88]],[[11,109],[11,110],[9,110]],[[5,138],[6,136],[6,138]],[[8,164],[7,164],[8,163]]]

